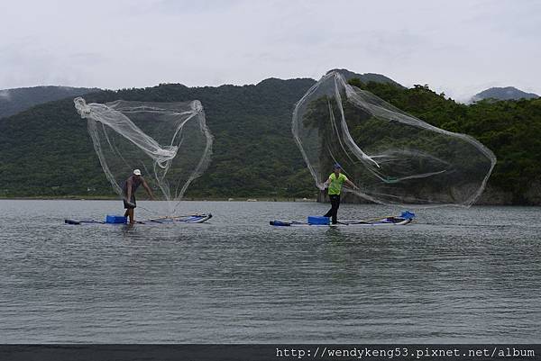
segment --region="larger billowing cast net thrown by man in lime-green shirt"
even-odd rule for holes
[[[436,128],[331,72],[293,113],[292,131],[316,185],[339,163],[360,197],[386,204],[470,206],[496,164],[491,150]]]

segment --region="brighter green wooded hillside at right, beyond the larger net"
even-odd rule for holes
[[[426,86],[351,83],[436,127],[469,134],[491,149],[498,162],[481,203],[541,204],[541,99],[465,105]]]

